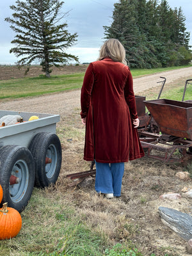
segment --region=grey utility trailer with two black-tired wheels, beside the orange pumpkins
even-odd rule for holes
[[[19,124],[0,128],[0,184],[3,200],[22,211],[34,185],[45,188],[55,184],[61,168],[61,143],[56,135],[60,115],[0,111],[0,118],[20,115]],[[31,116],[37,120],[28,121]]]

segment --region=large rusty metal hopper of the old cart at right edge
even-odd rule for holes
[[[192,140],[192,104],[177,100],[145,100],[145,105],[165,134]]]

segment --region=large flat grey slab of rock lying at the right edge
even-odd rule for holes
[[[192,238],[192,217],[189,214],[161,206],[158,210],[164,225],[172,228],[185,241]]]

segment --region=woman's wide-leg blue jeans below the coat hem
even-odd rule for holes
[[[98,163],[96,164],[95,190],[97,193],[113,193],[121,195],[122,178],[124,176],[124,163]]]

